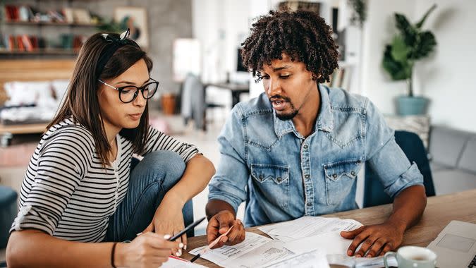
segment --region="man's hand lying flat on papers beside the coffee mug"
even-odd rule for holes
[[[404,232],[404,227],[386,222],[361,226],[353,231],[341,231],[341,236],[353,239],[347,250],[347,255],[354,255],[355,250],[361,245],[358,252],[355,252],[355,257],[377,257],[398,248],[402,243]]]

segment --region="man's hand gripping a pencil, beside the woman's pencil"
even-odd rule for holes
[[[213,248],[220,248],[223,245],[236,245],[245,240],[245,227],[239,219],[235,219],[233,213],[228,210],[221,211],[215,214],[212,219],[208,221],[207,226],[207,241],[212,243],[213,240],[226,233],[228,229],[233,229],[227,236],[221,238]]]

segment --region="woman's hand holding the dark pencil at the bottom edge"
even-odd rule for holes
[[[179,243],[164,239],[157,233],[143,233],[131,243],[118,243],[114,254],[117,267],[159,267],[169,260],[172,248]]]

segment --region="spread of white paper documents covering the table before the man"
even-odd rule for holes
[[[271,238],[246,233],[245,240],[233,246],[210,250],[201,257],[223,267],[382,267],[382,257],[355,258],[346,255],[352,240],[341,237],[341,231],[362,226],[353,219],[303,217],[258,229]],[[195,248],[197,255],[203,248]],[[396,266],[396,260],[390,264]]]

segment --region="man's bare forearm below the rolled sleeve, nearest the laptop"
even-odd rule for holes
[[[387,221],[405,231],[417,224],[427,206],[427,196],[422,185],[414,185],[399,193],[393,200],[393,211]]]

